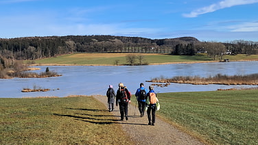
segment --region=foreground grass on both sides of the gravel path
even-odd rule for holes
[[[258,144],[257,94],[163,93],[158,94],[157,114],[209,144]],[[106,106],[91,96],[1,98],[0,117],[0,144],[134,144]]]

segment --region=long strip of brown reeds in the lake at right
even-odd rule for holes
[[[176,76],[171,79],[164,77],[154,78],[149,82],[159,83],[191,83],[193,85],[208,85],[208,84],[220,84],[220,85],[257,85],[258,73],[252,75],[215,75],[215,77],[198,77],[198,76]]]

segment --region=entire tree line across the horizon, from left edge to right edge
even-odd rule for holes
[[[49,36],[0,39],[0,57],[4,60],[36,60],[68,53],[170,53],[195,55],[207,52],[221,59],[231,54],[257,54],[258,42],[200,42],[193,37],[149,39],[125,36]],[[11,61],[10,61],[11,62]],[[3,64],[4,65],[4,64]]]

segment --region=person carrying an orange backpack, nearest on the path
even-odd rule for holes
[[[155,112],[156,112],[156,103],[159,102],[158,98],[156,98],[156,92],[153,90],[153,86],[149,86],[149,92],[147,94],[147,115],[148,115],[148,120],[149,120],[149,125],[155,124]],[[150,116],[150,111],[152,112],[152,116]]]

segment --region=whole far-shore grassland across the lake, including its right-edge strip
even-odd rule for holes
[[[139,53],[134,54],[139,55]],[[124,65],[128,64],[128,62],[126,62],[126,55],[128,55],[128,53],[73,53],[69,55],[60,55],[58,57],[45,58],[42,60],[35,60],[35,63],[52,65],[115,65],[116,62],[118,62],[118,65]],[[147,64],[212,61],[211,58],[204,54],[186,56],[142,53],[141,55],[143,55],[143,62],[146,62]],[[230,61],[258,60],[258,55],[225,55],[224,59],[229,59]]]

